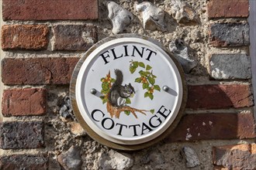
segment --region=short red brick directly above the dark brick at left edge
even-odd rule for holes
[[[4,90],[2,114],[9,116],[43,115],[47,112],[47,90],[28,88]]]

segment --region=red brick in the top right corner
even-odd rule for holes
[[[249,15],[248,0],[211,0],[207,8],[209,19],[247,17]]]

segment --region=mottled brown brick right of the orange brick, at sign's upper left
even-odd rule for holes
[[[98,41],[95,26],[54,26],[54,36],[55,50],[85,51]]]

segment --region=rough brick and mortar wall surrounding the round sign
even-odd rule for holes
[[[178,127],[133,152],[93,141],[72,114],[75,63],[112,35],[112,22],[106,1],[70,2],[2,0],[0,169],[256,168],[248,0],[151,0],[164,10],[164,29],[155,30],[143,26],[142,1],[115,1],[133,14],[124,33],[167,48],[182,39],[182,53],[197,63],[185,74],[189,98]]]

